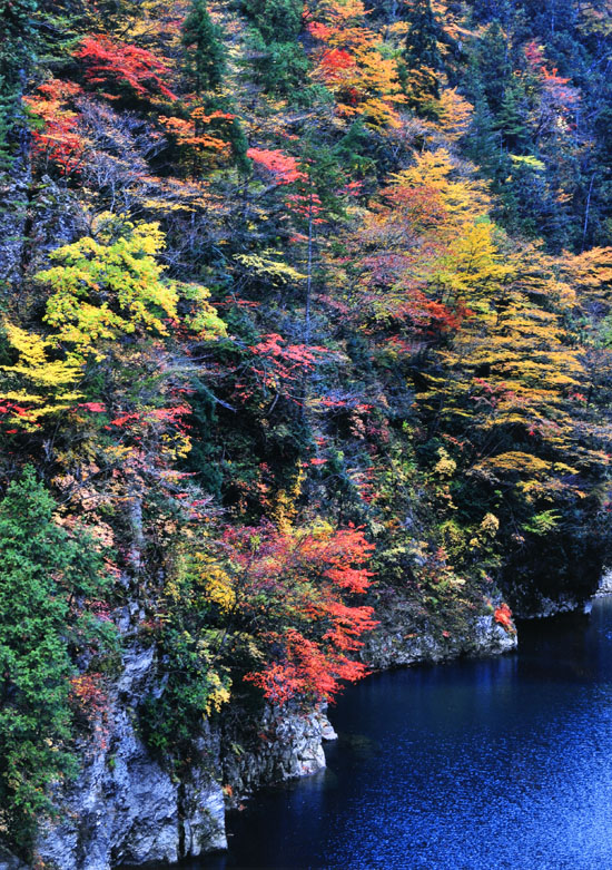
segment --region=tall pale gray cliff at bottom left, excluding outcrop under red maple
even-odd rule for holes
[[[172,862],[226,848],[224,796],[207,766],[214,737],[203,735],[207,761],[177,783],[135,729],[131,704],[147,688],[152,659],[150,648],[126,653],[110,700],[109,733],[87,750],[81,776],[58,795],[61,818],[41,831],[38,854],[58,870]]]

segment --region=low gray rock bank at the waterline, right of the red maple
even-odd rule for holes
[[[497,655],[516,647],[516,634],[496,623],[493,613],[474,616],[461,635],[450,637],[411,627],[409,606],[401,599],[386,608],[379,618],[379,627],[362,648],[362,659],[377,669],[444,662],[461,655]]]

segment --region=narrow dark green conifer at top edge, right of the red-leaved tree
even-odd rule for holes
[[[205,0],[194,0],[182,25],[182,45],[190,49],[196,91],[217,90],[225,75],[223,32],[213,23]]]

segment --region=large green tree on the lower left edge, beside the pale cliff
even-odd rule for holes
[[[82,612],[99,594],[101,557],[53,521],[31,467],[0,505],[0,831],[28,857],[47,789],[75,773],[67,749],[73,658],[100,637]]]

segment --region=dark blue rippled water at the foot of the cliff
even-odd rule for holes
[[[347,690],[327,771],[258,794],[189,868],[612,868],[612,599],[520,634]]]

